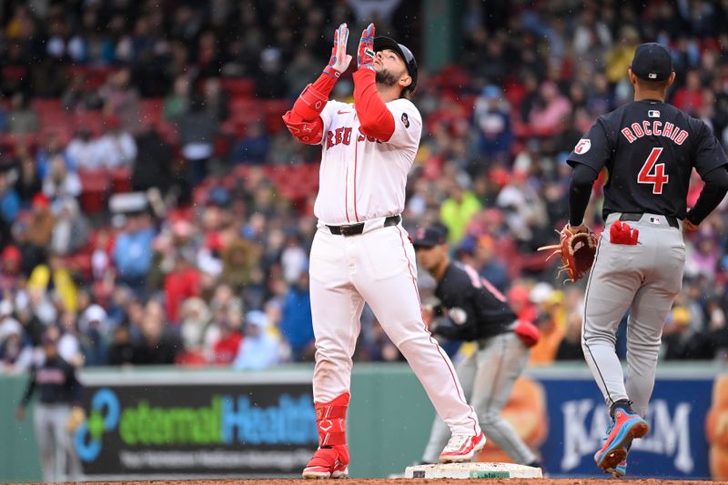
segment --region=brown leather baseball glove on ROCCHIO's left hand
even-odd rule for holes
[[[591,269],[597,251],[597,236],[589,227],[569,227],[568,224],[559,231],[559,236],[560,244],[544,246],[539,251],[554,249],[551,256],[558,254],[563,262],[559,274],[566,271],[568,279],[576,282]]]

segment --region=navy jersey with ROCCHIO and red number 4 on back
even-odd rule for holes
[[[568,162],[597,172],[607,167],[602,217],[648,212],[682,219],[693,167],[704,177],[728,160],[703,121],[646,99],[600,116]]]

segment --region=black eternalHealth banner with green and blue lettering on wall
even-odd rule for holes
[[[318,444],[310,383],[87,384],[86,399],[86,480],[298,476]]]

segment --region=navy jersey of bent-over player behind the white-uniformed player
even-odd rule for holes
[[[478,272],[453,261],[435,288],[442,307],[448,309],[452,327],[435,333],[458,340],[488,338],[510,331],[516,314],[506,298]]]

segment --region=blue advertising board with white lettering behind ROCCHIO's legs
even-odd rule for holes
[[[549,433],[541,445],[543,468],[553,477],[605,477],[593,455],[602,447],[610,417],[591,379],[539,379],[545,390]],[[645,419],[650,433],[635,440],[628,459],[632,477],[709,479],[705,417],[713,376],[657,379]]]

